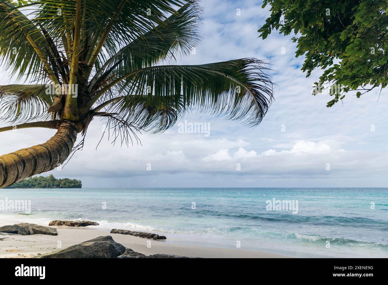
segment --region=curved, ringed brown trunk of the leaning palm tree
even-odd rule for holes
[[[0,156],[0,188],[61,165],[68,158],[77,133],[76,124],[64,122],[46,143]]]

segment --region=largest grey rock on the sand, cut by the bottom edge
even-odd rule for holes
[[[124,252],[125,247],[106,235],[37,258],[116,258]]]

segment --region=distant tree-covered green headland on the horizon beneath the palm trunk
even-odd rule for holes
[[[21,180],[4,188],[81,188],[82,183],[76,179],[56,179],[54,175],[38,176]]]

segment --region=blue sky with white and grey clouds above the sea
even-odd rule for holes
[[[268,60],[275,101],[254,128],[195,110],[163,134],[139,134],[141,145],[114,146],[98,118],[82,151],[61,170],[43,175],[82,180],[83,187],[386,187],[388,182],[386,89],[356,98],[347,94],[331,108],[327,94],[313,96],[322,70],[306,78],[291,36],[257,30],[269,8],[250,0],[202,2],[203,40],[177,64],[237,58]],[[237,10],[239,9],[239,10]],[[238,12],[240,11],[240,15]],[[0,84],[15,83],[0,70]],[[182,132],[182,124],[204,123],[205,133]],[[181,123],[181,124],[178,124]],[[55,130],[0,133],[2,154],[41,144]],[[80,136],[78,137],[80,141]],[[98,148],[96,150],[96,147]]]

